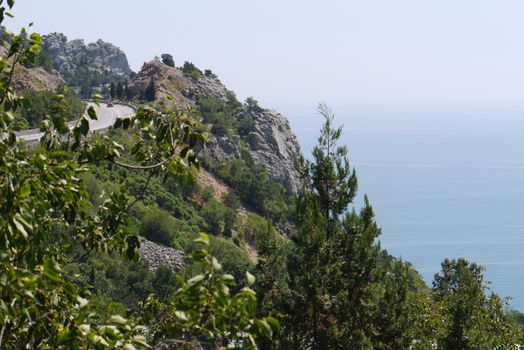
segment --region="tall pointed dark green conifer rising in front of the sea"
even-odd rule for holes
[[[338,145],[342,129],[333,127],[325,105],[319,112],[325,122],[312,161],[299,164],[303,186],[294,249],[287,259],[287,286],[280,288],[279,311],[287,316],[281,341],[312,350],[393,349],[388,336],[398,344],[413,340],[406,326],[410,314],[398,313],[408,310],[409,295],[400,283],[405,272],[397,268],[393,282],[383,282],[394,269],[379,264],[381,230],[366,196],[360,211],[350,208],[357,177],[347,147]]]

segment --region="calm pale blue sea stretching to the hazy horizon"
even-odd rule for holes
[[[281,111],[309,155],[322,119],[314,107]],[[524,311],[524,111],[335,114],[382,247],[429,285],[445,257],[482,264],[493,290]]]

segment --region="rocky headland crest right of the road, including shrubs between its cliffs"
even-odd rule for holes
[[[280,113],[261,108],[256,102],[239,103],[234,92],[212,73],[195,75],[184,72],[183,67],[151,61],[129,86],[143,91],[150,81],[157,101],[170,97],[179,106],[200,111],[203,122],[211,126],[206,156],[220,162],[240,159],[241,152],[246,151],[273,180],[297,190],[299,179],[293,162],[300,156],[300,146],[289,121]],[[227,110],[229,106],[233,107]]]

